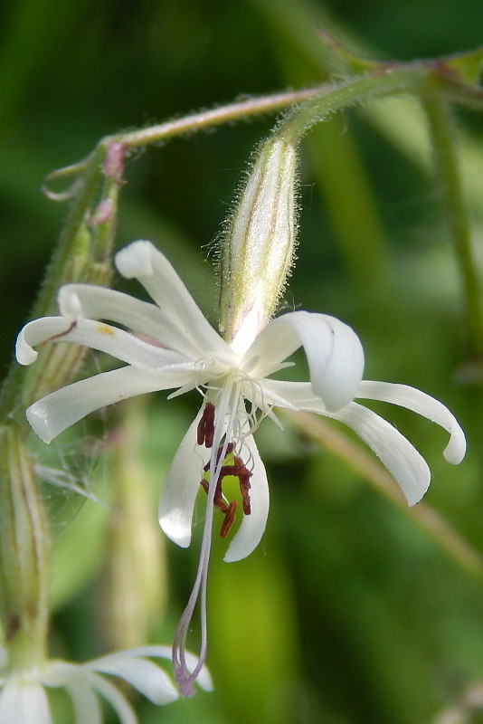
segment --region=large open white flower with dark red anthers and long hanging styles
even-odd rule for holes
[[[180,444],[166,475],[159,520],[180,546],[191,540],[194,501],[200,481],[208,493],[200,566],[194,591],[178,626],[174,644],[175,676],[180,691],[191,684],[204,661],[205,585],[210,553],[213,504],[223,511],[222,535],[236,514],[236,501],[223,496],[225,475],[240,481],[242,523],[225,560],[248,556],[263,535],[269,511],[265,468],[252,433],[264,416],[278,422],[274,407],[305,410],[339,420],[367,443],[393,474],[410,505],[421,500],[430,482],[428,465],[401,433],[355,398],[401,405],[429,418],[450,433],[444,456],[462,460],[466,441],[450,411],[409,386],[363,381],[364,352],[355,332],[325,314],[295,311],[272,319],[264,329],[244,323],[230,341],[220,337],[195,304],[165,256],[149,242],[131,243],[116,256],[118,271],[137,278],[155,304],[119,291],[69,284],[59,293],[60,317],[35,319],[21,331],[16,355],[21,364],[37,357],[33,346],[75,342],[126,362],[63,387],[27,410],[33,430],[50,442],[86,414],[133,395],[175,389],[180,395],[197,388],[204,405]],[[258,325],[257,314],[251,314]],[[109,319],[137,333],[113,327]],[[309,382],[271,379],[303,347]],[[193,674],[185,666],[185,636],[198,595],[202,603],[202,653]]]

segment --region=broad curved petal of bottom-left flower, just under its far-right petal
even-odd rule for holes
[[[83,665],[90,671],[119,676],[155,704],[169,704],[178,698],[173,681],[156,663],[126,652],[112,653]]]

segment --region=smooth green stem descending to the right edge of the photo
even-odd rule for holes
[[[452,114],[448,103],[433,93],[432,89],[423,98],[423,103],[433,140],[435,173],[440,184],[442,201],[448,214],[450,233],[459,259],[472,347],[478,357],[483,357],[481,287],[471,243],[469,215],[459,174]]]

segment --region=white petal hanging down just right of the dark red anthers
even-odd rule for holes
[[[250,479],[251,513],[243,515],[242,525],[226,551],[223,560],[228,563],[250,556],[251,551],[257,548],[265,532],[269,515],[269,483],[265,465],[261,461],[253,435],[246,437],[243,445],[248,448],[248,454],[242,450],[243,462],[252,472]]]

